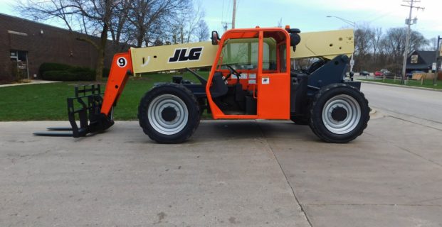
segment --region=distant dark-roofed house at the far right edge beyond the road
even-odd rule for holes
[[[414,50],[406,59],[406,72],[431,72],[433,62],[436,62],[436,51]]]

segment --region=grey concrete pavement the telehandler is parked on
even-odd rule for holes
[[[0,122],[0,226],[441,226],[442,131],[377,111],[352,143],[288,121],[202,121],[159,145]]]

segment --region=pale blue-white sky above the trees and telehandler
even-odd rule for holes
[[[233,0],[196,0],[206,12],[210,30],[222,33],[221,22],[231,22]],[[0,13],[14,16],[16,12],[11,3],[14,0],[0,0]],[[409,16],[409,8],[401,0],[237,0],[236,28],[255,26],[274,27],[282,20],[283,26],[300,28],[301,31],[327,31],[350,26],[337,18],[339,16],[357,25],[368,24],[373,27],[388,28],[405,26],[404,19]],[[414,9],[413,16],[418,18],[411,28],[421,32],[426,38],[442,35],[442,0],[421,0]],[[56,25],[55,25],[56,26]]]

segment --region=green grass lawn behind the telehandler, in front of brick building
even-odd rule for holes
[[[207,77],[209,72],[199,74]],[[154,82],[172,82],[172,75],[174,74],[143,74],[141,78],[130,78],[115,108],[115,119],[137,119],[138,104],[144,93],[152,88]],[[184,73],[184,79],[196,82],[196,78],[188,72]],[[66,98],[74,96],[75,84],[85,83],[60,82],[0,87],[0,121],[67,121]]]

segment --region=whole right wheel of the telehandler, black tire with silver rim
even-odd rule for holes
[[[347,143],[362,134],[370,119],[368,101],[357,88],[330,84],[315,95],[310,128],[327,143]]]

